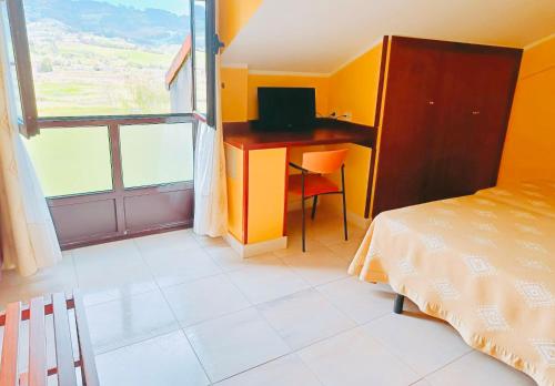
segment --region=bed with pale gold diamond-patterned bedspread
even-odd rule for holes
[[[381,213],[349,271],[390,283],[472,347],[555,385],[554,182]]]

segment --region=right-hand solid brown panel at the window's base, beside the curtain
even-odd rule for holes
[[[125,228],[144,231],[160,224],[190,224],[194,211],[193,190],[124,197]]]

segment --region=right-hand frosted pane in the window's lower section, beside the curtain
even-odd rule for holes
[[[123,185],[138,187],[193,180],[193,124],[120,128]]]

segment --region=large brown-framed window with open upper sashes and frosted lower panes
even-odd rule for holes
[[[0,0],[13,110],[63,245],[192,223],[213,4]]]

